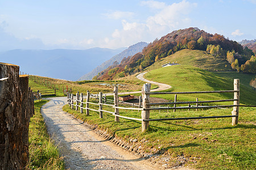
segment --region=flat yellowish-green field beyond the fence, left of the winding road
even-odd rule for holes
[[[110,81],[80,81],[80,82],[70,82],[67,80],[59,80],[46,78],[42,76],[30,75],[32,78],[29,80],[29,86],[33,91],[37,90],[52,90],[56,87],[56,96],[64,96],[63,89],[68,90],[72,88],[72,92],[76,93],[77,91],[86,94],[86,91],[90,91],[91,94],[97,94],[98,92],[109,93],[113,92],[114,86],[118,86],[119,92],[125,91],[139,91],[141,90],[143,83],[141,80],[136,78],[131,79],[118,79]],[[131,76],[133,77],[133,76]],[[42,80],[41,80],[42,79]],[[49,85],[51,84],[51,86]],[[47,87],[49,86],[49,87]],[[156,88],[154,86],[153,88]]]

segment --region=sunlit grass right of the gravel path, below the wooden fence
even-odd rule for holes
[[[125,120],[114,122],[112,114],[97,112],[90,116],[72,110],[68,105],[64,111],[88,124],[122,138],[133,147],[141,148],[145,154],[158,156],[155,162],[167,164],[168,168],[189,165],[199,169],[255,169],[256,168],[256,109],[240,108],[237,126],[231,118],[205,120],[150,122],[146,133],[141,132],[141,122]],[[96,109],[96,108],[94,108]],[[105,107],[104,109],[110,110]],[[112,108],[113,109],[113,108]],[[232,109],[208,109],[202,111],[151,112],[150,118],[197,117],[230,115]],[[122,116],[141,117],[138,111],[119,110]],[[138,139],[138,142],[131,142]]]

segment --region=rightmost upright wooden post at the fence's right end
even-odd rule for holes
[[[234,105],[239,105],[240,101],[240,86],[239,86],[239,79],[234,79],[234,90],[238,90],[238,92],[234,92],[234,99],[237,99],[237,101],[234,101]],[[232,117],[232,125],[238,124],[238,113],[239,113],[239,107],[233,107],[232,115],[236,115],[237,117]]]

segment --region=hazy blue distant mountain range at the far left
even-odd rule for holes
[[[0,62],[20,66],[20,71],[33,75],[65,80],[77,80],[107,61],[120,49],[90,48],[86,50],[9,50],[0,53]]]

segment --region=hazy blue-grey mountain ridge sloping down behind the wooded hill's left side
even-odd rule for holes
[[[148,45],[147,42],[138,42],[137,44],[129,46],[129,48],[127,48],[123,52],[115,55],[114,57],[110,58],[108,61],[105,61],[101,65],[97,66],[95,69],[93,69],[89,73],[81,76],[81,78],[79,78],[79,80],[91,80],[93,78],[93,76],[97,75],[101,71],[103,71],[103,70],[107,69],[109,66],[113,65],[113,63],[115,61],[116,61],[115,64],[119,64],[123,58],[133,56],[134,54],[141,52],[142,49],[147,45]]]

